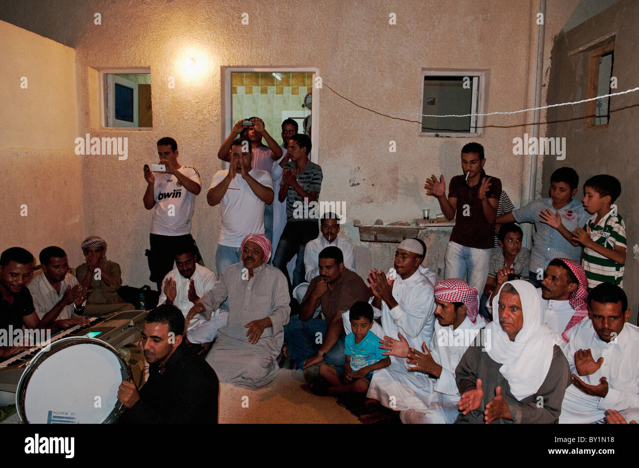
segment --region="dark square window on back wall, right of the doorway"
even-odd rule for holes
[[[422,71],[422,114],[447,116],[481,114],[486,82],[484,72],[472,70]],[[481,134],[482,117],[423,117],[420,135],[473,137]]]

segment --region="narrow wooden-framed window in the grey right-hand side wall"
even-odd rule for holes
[[[610,79],[615,54],[615,38],[587,51],[588,84],[586,99],[610,94]],[[610,97],[585,103],[583,128],[606,128],[610,122]]]

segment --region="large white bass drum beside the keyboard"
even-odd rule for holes
[[[128,379],[126,363],[108,343],[62,338],[27,364],[15,406],[23,423],[114,423],[125,409],[118,388]]]

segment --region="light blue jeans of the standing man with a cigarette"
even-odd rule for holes
[[[449,242],[446,248],[444,278],[466,279],[469,286],[484,291],[492,248],[473,248]]]

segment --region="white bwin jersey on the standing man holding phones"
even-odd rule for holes
[[[182,166],[181,174],[202,185],[197,169]],[[191,218],[196,210],[196,195],[184,188],[173,174],[154,174],[153,200],[155,211],[151,218],[151,234],[183,236],[191,232]]]

